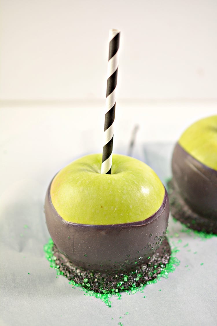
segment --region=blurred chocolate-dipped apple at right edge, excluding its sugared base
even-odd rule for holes
[[[193,212],[217,218],[217,115],[187,128],[172,155],[172,183]]]

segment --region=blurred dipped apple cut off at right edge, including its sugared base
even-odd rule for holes
[[[217,115],[188,127],[172,155],[172,215],[195,230],[217,233]]]

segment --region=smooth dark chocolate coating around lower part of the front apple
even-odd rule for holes
[[[133,270],[147,262],[165,238],[170,212],[166,189],[162,205],[146,220],[85,225],[67,222],[57,213],[50,198],[51,183],[45,198],[47,228],[60,252],[77,267],[96,272]]]

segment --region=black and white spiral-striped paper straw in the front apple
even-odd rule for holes
[[[115,89],[117,85],[119,39],[120,31],[118,31],[117,29],[111,29],[109,31],[109,58],[105,101],[106,113],[104,125],[104,146],[102,151],[101,166],[102,174],[111,174],[112,170],[112,148],[116,105]]]

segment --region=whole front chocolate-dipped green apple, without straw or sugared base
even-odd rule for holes
[[[113,154],[111,174],[102,155],[63,168],[46,194],[47,228],[75,266],[95,272],[132,270],[155,253],[169,217],[167,191],[145,163]]]

